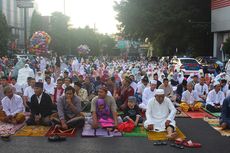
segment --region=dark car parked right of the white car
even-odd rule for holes
[[[196,59],[203,66],[204,73],[220,73],[224,67],[220,60],[212,56],[201,56]]]

